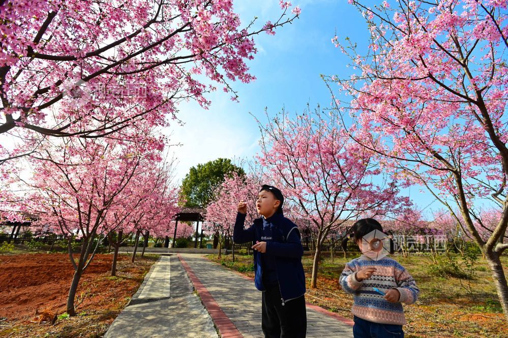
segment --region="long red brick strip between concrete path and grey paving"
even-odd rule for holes
[[[212,320],[214,321],[215,326],[219,330],[219,334],[222,338],[229,337],[242,337],[242,334],[236,326],[234,326],[233,322],[226,316],[226,314],[219,307],[214,297],[208,292],[208,290],[204,287],[203,284],[199,281],[199,279],[194,275],[192,268],[187,264],[187,262],[182,258],[180,254],[177,254],[178,259],[182,262],[182,265],[187,271],[187,275],[191,279],[194,288],[198,292],[201,297],[201,301],[203,302],[204,307],[210,313]]]

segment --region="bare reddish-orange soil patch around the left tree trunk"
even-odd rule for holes
[[[77,257],[76,257],[77,258]],[[110,278],[112,255],[96,255],[81,277],[76,298],[82,310],[122,309],[142,282],[151,263],[126,266],[119,256],[118,278]],[[66,312],[74,269],[66,254],[0,255],[0,317],[9,321],[34,319],[36,310]]]

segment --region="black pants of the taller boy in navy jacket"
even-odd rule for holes
[[[307,333],[305,297],[287,301],[282,306],[279,286],[262,292],[261,327],[266,338],[300,338]]]

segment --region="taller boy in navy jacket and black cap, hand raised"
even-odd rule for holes
[[[307,331],[304,249],[300,231],[283,215],[283,203],[279,189],[263,185],[256,202],[262,217],[244,229],[247,205],[240,201],[233,230],[235,243],[253,244],[254,284],[262,291],[261,327],[268,338],[305,337]]]

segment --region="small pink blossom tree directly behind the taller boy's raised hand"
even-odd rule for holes
[[[229,175],[224,176],[224,182],[215,192],[215,200],[206,208],[206,222],[203,223],[204,229],[208,233],[219,233],[219,258],[221,257],[222,242],[233,234],[238,202],[244,200],[250,206],[247,208],[246,224],[252,224],[258,217],[256,200],[260,187],[259,182],[252,177],[242,177],[235,172]]]

